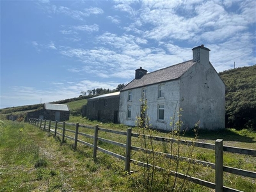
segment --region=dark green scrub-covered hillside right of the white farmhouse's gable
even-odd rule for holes
[[[256,65],[220,72],[226,84],[226,127],[256,130]]]

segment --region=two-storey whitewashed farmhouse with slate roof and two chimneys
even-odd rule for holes
[[[202,129],[224,128],[225,84],[209,61],[210,49],[201,45],[192,51],[193,60],[150,73],[138,68],[120,92],[119,122],[134,126],[147,100],[153,128],[170,131],[179,117],[184,129],[198,121]]]

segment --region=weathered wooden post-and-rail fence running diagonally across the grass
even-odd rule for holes
[[[61,136],[61,141],[64,142],[65,138],[68,138],[70,140],[74,140],[74,148],[77,148],[77,142],[82,143],[84,145],[87,145],[88,147],[93,148],[93,158],[95,159],[97,157],[97,150],[100,152],[104,152],[110,156],[116,157],[118,159],[122,159],[125,161],[125,171],[130,172],[130,164],[135,163],[139,166],[152,166],[152,164],[148,163],[143,163],[141,161],[137,161],[135,159],[131,159],[131,150],[134,151],[143,151],[147,154],[151,154],[151,150],[146,150],[140,147],[134,147],[132,146],[132,137],[134,138],[139,138],[141,134],[137,133],[132,133],[132,129],[129,128],[127,129],[127,132],[124,131],[115,131],[111,129],[104,129],[99,127],[99,125],[96,125],[95,127],[88,126],[88,125],[79,125],[77,124],[70,124],[70,123],[65,123],[65,122],[52,122],[51,120],[42,120],[42,119],[36,119],[36,118],[30,118],[29,123],[33,125],[37,125],[38,127],[41,127],[45,131],[49,132],[54,132],[54,136],[60,135]],[[66,129],[66,125],[74,126],[76,129],[71,130],[71,129]],[[86,134],[84,132],[79,132],[79,128],[83,129],[92,129],[94,131],[94,135],[92,134]],[[61,130],[61,132],[58,132],[58,129]],[[75,131],[76,130],[76,131]],[[118,135],[123,135],[126,136],[126,143],[119,143],[116,141],[111,141],[107,140],[105,138],[100,138],[99,137],[99,131],[102,132],[109,132],[112,134],[118,134]],[[66,132],[72,132],[74,134],[74,137],[68,136]],[[86,138],[91,138],[93,140],[93,143],[88,143],[83,140],[78,139],[78,135],[85,136]],[[145,136],[146,138],[150,138],[150,136]],[[252,149],[246,149],[246,148],[237,148],[237,147],[228,147],[228,146],[223,146],[223,140],[216,140],[215,144],[210,144],[210,143],[201,143],[201,142],[194,142],[194,141],[185,141],[185,140],[175,140],[175,139],[170,139],[170,138],[163,138],[163,137],[157,137],[157,136],[152,136],[151,137],[155,141],[162,141],[162,142],[173,142],[173,143],[180,143],[182,145],[195,145],[195,147],[200,147],[200,148],[207,148],[210,150],[215,150],[215,163],[209,163],[206,161],[200,161],[193,159],[193,163],[200,163],[202,166],[207,166],[209,168],[212,168],[215,170],[215,183],[208,182],[206,180],[198,179],[195,177],[190,177],[188,175],[184,175],[182,173],[178,172],[170,172],[170,175],[173,175],[175,177],[179,177],[180,179],[186,179],[191,182],[194,182],[196,184],[200,184],[202,186],[205,186],[207,188],[215,189],[216,192],[222,192],[222,191],[239,191],[237,189],[232,189],[228,188],[226,186],[223,186],[223,172],[228,172],[228,173],[233,173],[236,175],[241,175],[244,177],[250,177],[253,179],[256,179],[256,172],[250,172],[248,170],[241,170],[237,168],[232,168],[229,166],[223,166],[223,152],[231,152],[231,153],[236,153],[236,154],[246,154],[250,156],[256,157],[256,150]],[[106,150],[104,148],[101,148],[98,146],[98,141],[103,141],[106,143],[111,143],[113,145],[116,145],[118,147],[124,147],[125,148],[125,156],[121,156],[120,154],[116,154],[114,152],[111,152],[109,150]],[[161,156],[165,156],[166,158],[169,159],[177,159],[177,156],[173,156],[171,154],[166,154],[163,152],[155,152],[156,154],[159,154]],[[180,160],[186,160],[189,159],[187,157],[179,157]],[[156,167],[156,166],[155,166]],[[162,168],[157,167],[159,170]]]

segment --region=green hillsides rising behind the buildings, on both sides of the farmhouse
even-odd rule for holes
[[[256,130],[256,65],[241,67],[220,72],[219,75],[226,84],[226,127],[236,129]],[[81,115],[82,106],[87,99],[93,97],[87,95],[72,99],[52,102],[56,104],[68,104],[72,115]],[[32,110],[42,108],[43,104],[20,106],[15,108],[0,109],[0,118],[7,115],[26,116]]]

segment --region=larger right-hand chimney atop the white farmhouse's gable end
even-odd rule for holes
[[[193,51],[193,62],[200,62],[200,63],[209,63],[209,55],[210,49],[204,47],[204,45],[200,45],[192,49]]]

